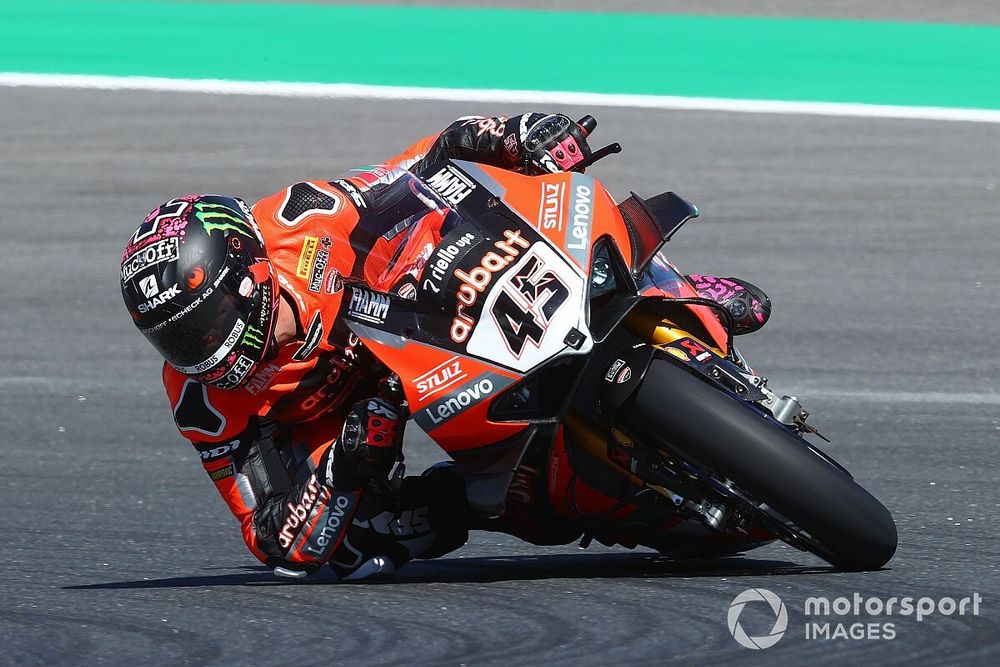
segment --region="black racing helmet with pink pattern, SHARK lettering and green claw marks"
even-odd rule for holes
[[[278,277],[240,199],[186,195],[152,211],[125,246],[125,306],[168,364],[239,389],[268,358]]]

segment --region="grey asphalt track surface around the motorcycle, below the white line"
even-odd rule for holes
[[[565,108],[573,115],[588,109]],[[444,103],[0,89],[0,663],[996,664],[1000,654],[1000,126],[603,110],[620,197],[672,189],[671,246],[775,314],[743,349],[893,512],[896,557],[839,573],[783,544],[670,562],[480,534],[381,584],[276,580],[174,430],[121,304],[125,238],[176,194],[248,199],[387,156],[470,112]],[[414,468],[439,458],[411,427]],[[751,651],[730,602],[788,606]],[[808,596],[978,592],[979,616],[876,618],[806,640]],[[847,623],[865,617],[824,619]],[[747,608],[751,634],[773,616]]]

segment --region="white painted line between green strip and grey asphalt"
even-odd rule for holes
[[[164,79],[78,74],[22,74],[0,72],[0,86],[91,88],[97,90],[151,90],[218,95],[266,95],[318,99],[440,100],[449,102],[509,102],[517,104],[572,104],[639,109],[687,109],[741,113],[806,114],[909,120],[949,120],[1000,123],[1000,110],[950,107],[907,107],[838,102],[730,100],[669,95],[616,95],[570,91],[479,90],[470,88],[409,88],[353,83],[287,83],[282,81],[227,81],[223,79]]]

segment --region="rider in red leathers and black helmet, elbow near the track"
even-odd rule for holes
[[[122,293],[165,359],[177,428],[277,575],[324,563],[348,579],[386,574],[468,537],[464,485],[447,467],[387,480],[405,406],[341,319],[379,307],[343,299],[343,284],[386,286],[396,177],[445,158],[539,174],[589,154],[566,116],[461,118],[384,164],[296,183],[252,208],[177,197],[132,235]],[[394,288],[405,296],[405,286]],[[738,287],[723,298],[738,299]]]

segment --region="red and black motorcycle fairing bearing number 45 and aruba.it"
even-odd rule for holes
[[[516,404],[509,400],[515,392],[559,364],[571,369],[567,378],[582,369],[594,345],[589,274],[599,241],[641,272],[627,280],[633,296],[640,289],[656,297],[696,293],[662,256],[632,267],[643,258],[632,254],[626,222],[589,176],[526,177],[455,161],[422,177],[404,174],[393,187],[408,190],[422,208],[396,225],[406,236],[372,281],[375,289],[347,286],[344,314],[400,377],[414,421],[455,459],[470,504],[485,516],[503,513],[522,456],[538,446],[550,466],[544,502],[552,512],[630,516],[635,506],[573,471],[566,448],[575,436],[560,423],[572,379],[554,389],[564,395],[541,418],[507,410],[500,421],[491,415],[504,411],[492,408],[501,400]],[[711,311],[686,308],[724,348],[725,332]],[[553,391],[551,378],[545,390]],[[658,530],[688,523],[663,515]],[[625,534],[611,539],[636,543]]]

